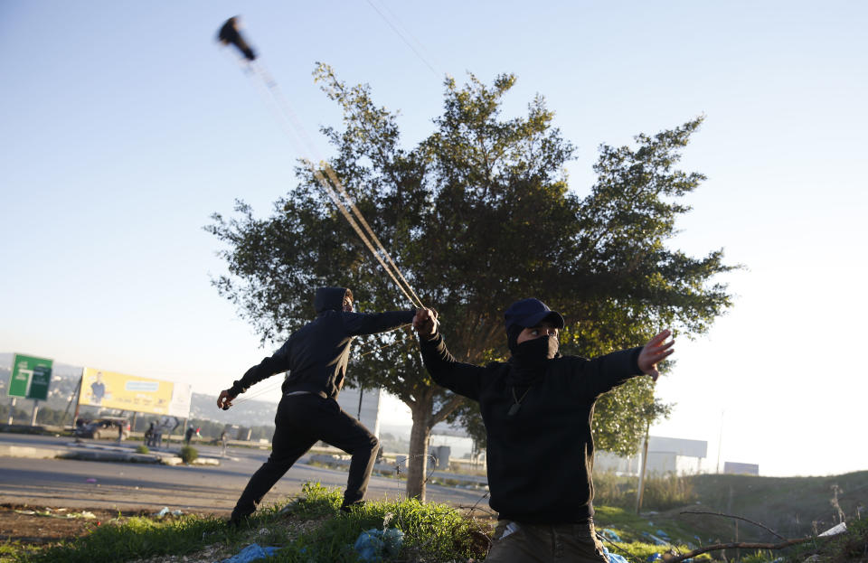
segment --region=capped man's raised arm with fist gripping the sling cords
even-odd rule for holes
[[[438,333],[438,326],[437,313],[432,309],[420,309],[413,318],[413,327],[419,333],[419,347],[425,369],[438,385],[458,395],[479,400],[486,369],[456,360]]]

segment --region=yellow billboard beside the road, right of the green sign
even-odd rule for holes
[[[85,368],[79,404],[167,415],[174,387],[170,381]]]

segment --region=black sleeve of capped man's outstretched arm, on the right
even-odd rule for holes
[[[571,391],[582,399],[593,401],[609,389],[641,375],[639,352],[642,352],[641,347],[612,352],[593,360],[571,358]]]

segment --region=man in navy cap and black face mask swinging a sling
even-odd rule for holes
[[[558,352],[563,317],[542,301],[514,303],[505,320],[512,356],[482,367],[448,352],[434,311],[413,319],[431,378],[482,411],[490,504],[499,513],[486,561],[608,561],[594,534],[594,402],[643,373],[656,380],[657,362],[674,352],[670,333],[585,360]]]

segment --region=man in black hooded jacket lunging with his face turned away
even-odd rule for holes
[[[320,287],[314,305],[315,320],[292,333],[278,352],[250,368],[217,399],[218,407],[230,408],[232,399],[254,383],[289,371],[274,418],[271,455],[241,493],[230,518],[233,524],[252,514],[265,493],[318,440],[353,456],[342,510],[349,511],[351,505],[361,502],[368,487],[380,443],[336,400],[344,386],[350,342],[354,336],[410,324],[415,311],[354,313],[353,292],[344,287]]]

